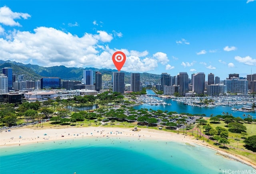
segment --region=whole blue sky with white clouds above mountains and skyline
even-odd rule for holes
[[[0,60],[128,72],[256,73],[256,0],[1,0]],[[207,80],[207,79],[206,79]]]

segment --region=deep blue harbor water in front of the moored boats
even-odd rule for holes
[[[147,90],[147,94],[154,94],[152,90]],[[164,100],[166,103],[170,103],[172,105],[150,105],[150,104],[142,104],[138,106],[134,106],[134,109],[141,109],[141,108],[148,108],[152,110],[168,110],[170,111],[176,111],[178,113],[190,113],[190,114],[206,114],[206,116],[210,116],[213,114],[213,116],[221,115],[222,112],[228,112],[229,114],[232,114],[234,117],[243,117],[243,114],[250,114],[253,118],[256,118],[256,112],[240,112],[240,111],[233,111],[231,110],[232,107],[230,106],[216,106],[213,108],[210,107],[196,107],[196,106],[189,106],[185,105],[182,102],[176,102],[172,101],[171,99],[163,99],[159,97],[155,97],[159,100]],[[239,107],[239,106],[238,106]]]

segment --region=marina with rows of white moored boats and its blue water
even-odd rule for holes
[[[155,94],[152,90],[147,90],[147,94]],[[246,116],[250,114],[252,118],[256,118],[256,112],[241,112],[239,110],[232,110],[232,108],[242,108],[247,107],[250,108],[252,103],[255,102],[255,99],[252,96],[221,96],[221,97],[204,97],[210,100],[211,98],[214,100],[214,105],[212,107],[202,107],[202,106],[193,106],[192,104],[186,104],[199,101],[200,97],[157,97],[154,96],[158,100],[163,100],[170,105],[150,105],[147,103],[140,104],[138,106],[134,106],[134,109],[140,108],[148,108],[152,110],[163,110],[163,111],[175,111],[178,113],[190,113],[190,114],[205,114],[206,117],[210,117],[211,115],[222,115],[222,114],[232,114],[234,117],[244,118],[244,114]],[[185,104],[184,104],[185,103]],[[247,114],[248,113],[248,114]]]

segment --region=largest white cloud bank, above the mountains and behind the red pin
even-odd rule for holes
[[[33,32],[14,31],[10,39],[0,39],[2,60],[38,64],[40,66],[112,68],[112,54],[118,49],[111,49],[106,42],[112,35],[104,31],[96,34],[85,33],[78,37],[55,28],[38,27]],[[103,43],[102,43],[103,42]],[[158,62],[167,62],[165,53],[157,52],[148,56],[148,51],[120,49],[126,54],[124,71],[147,72],[158,67]],[[169,67],[170,68],[170,67]]]

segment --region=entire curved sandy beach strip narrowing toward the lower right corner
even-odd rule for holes
[[[46,134],[46,135],[45,135]],[[143,138],[150,140],[167,140],[172,142],[182,142],[197,144],[216,151],[216,155],[221,155],[229,160],[236,160],[256,169],[256,164],[250,159],[232,154],[221,149],[215,148],[210,144],[194,139],[193,136],[184,136],[164,130],[154,130],[148,128],[138,128],[138,131],[132,131],[132,128],[118,127],[82,127],[82,128],[14,128],[10,132],[0,132],[0,147],[22,146],[26,144],[36,144],[45,141],[67,140],[72,138],[88,137],[126,137]]]

